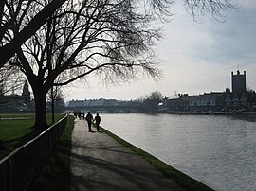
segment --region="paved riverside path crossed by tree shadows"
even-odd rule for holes
[[[71,191],[183,190],[113,138],[88,132],[85,121],[78,119],[72,134],[71,172]]]

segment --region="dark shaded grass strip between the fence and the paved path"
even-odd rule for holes
[[[46,164],[27,191],[70,190],[71,133],[73,128],[74,117],[68,116],[67,125],[60,141],[51,151]]]

